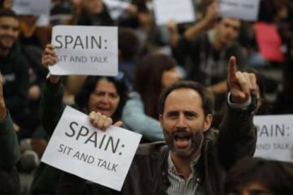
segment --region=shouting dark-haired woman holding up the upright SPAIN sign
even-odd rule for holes
[[[42,64],[44,66],[55,64],[56,61],[54,47],[47,45],[42,56]],[[74,106],[86,114],[95,111],[112,117],[114,122],[119,121],[127,99],[124,78],[119,76],[88,76],[75,97],[76,105]],[[52,135],[57,126],[65,107],[63,102],[64,86],[60,80],[60,76],[47,78],[42,94],[40,115],[43,127],[49,136]],[[60,170],[41,163],[35,172],[32,194],[56,194],[59,175]]]

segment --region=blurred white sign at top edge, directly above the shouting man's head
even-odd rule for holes
[[[165,25],[170,20],[176,23],[195,21],[192,0],[154,0],[156,25]]]

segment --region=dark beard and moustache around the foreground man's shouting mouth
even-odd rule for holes
[[[172,131],[171,134],[167,134],[166,130],[163,130],[165,141],[171,149],[172,153],[182,157],[189,158],[193,153],[200,149],[203,140],[203,131],[196,131],[195,133],[187,131],[185,128],[177,128]],[[178,150],[174,146],[174,141],[178,139],[183,139],[185,141],[190,141],[191,146],[185,150]]]

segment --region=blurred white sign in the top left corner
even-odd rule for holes
[[[18,15],[40,16],[38,25],[48,25],[51,0],[13,0],[12,9]]]

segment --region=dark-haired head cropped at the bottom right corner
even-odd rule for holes
[[[243,158],[227,173],[225,192],[229,195],[291,195],[292,184],[291,162]]]

